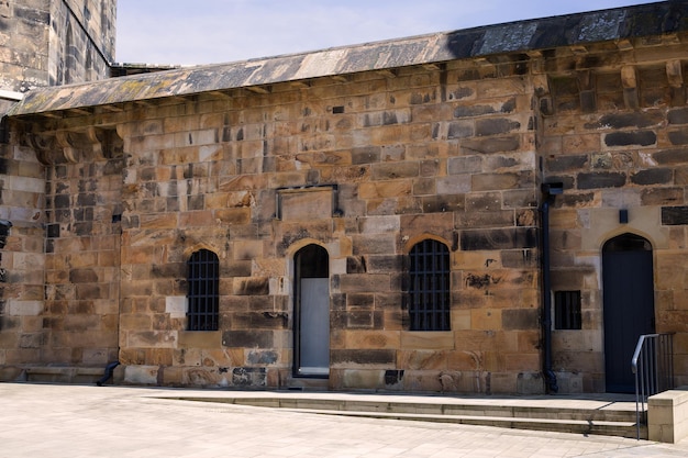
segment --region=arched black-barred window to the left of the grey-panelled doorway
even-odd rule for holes
[[[189,331],[218,331],[219,322],[219,272],[218,255],[201,249],[188,261]]]

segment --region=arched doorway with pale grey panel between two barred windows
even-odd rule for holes
[[[299,249],[293,257],[293,375],[330,375],[330,257],[318,245]]]

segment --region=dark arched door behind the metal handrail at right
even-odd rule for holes
[[[622,234],[602,247],[604,373],[608,392],[632,393],[631,359],[643,334],[655,332],[652,244]]]

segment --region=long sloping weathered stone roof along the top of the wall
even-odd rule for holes
[[[428,65],[688,31],[688,0],[511,22],[311,53],[203,65],[31,90],[9,115]]]

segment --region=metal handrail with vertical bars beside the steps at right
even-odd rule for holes
[[[641,438],[641,407],[647,398],[674,388],[674,334],[644,334],[639,337],[631,359],[635,376],[635,425]]]

